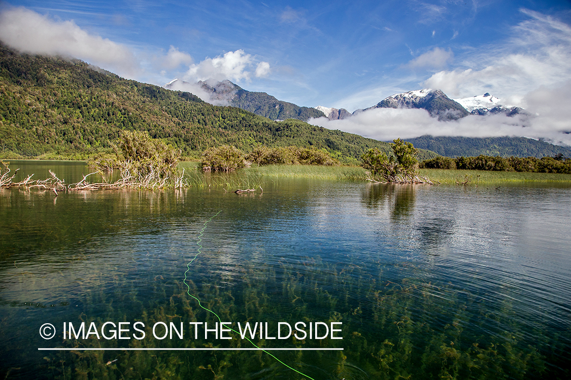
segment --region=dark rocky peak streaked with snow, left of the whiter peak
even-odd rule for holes
[[[391,95],[367,109],[372,108],[422,108],[439,120],[457,120],[469,115],[461,104],[450,99],[444,92],[429,88]]]

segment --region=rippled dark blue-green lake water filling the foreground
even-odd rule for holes
[[[2,189],[2,378],[570,377],[571,188],[264,181],[240,195]],[[218,335],[197,299],[262,337]],[[182,338],[163,338],[171,322]],[[293,350],[237,350],[254,345]]]

